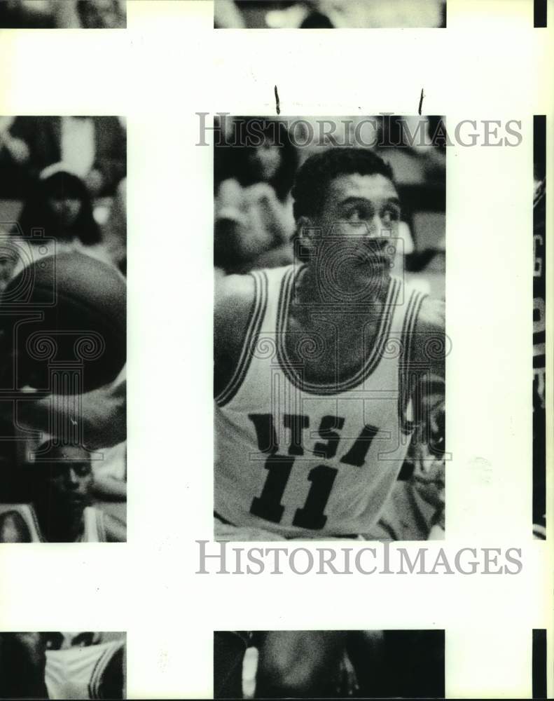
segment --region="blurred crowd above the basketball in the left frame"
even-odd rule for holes
[[[58,251],[80,250],[125,272],[126,170],[118,117],[2,117],[0,226],[29,241],[43,231]]]

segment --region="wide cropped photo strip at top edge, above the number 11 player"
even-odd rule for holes
[[[446,26],[446,0],[214,0],[216,29]]]

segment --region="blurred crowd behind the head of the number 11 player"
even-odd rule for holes
[[[335,126],[332,137],[317,137],[323,121]],[[443,297],[445,131],[440,117],[236,116],[221,118],[216,127],[221,134],[214,147],[219,273],[290,264],[300,250],[291,198],[296,170],[314,150],[359,145],[378,152],[394,172],[403,215],[397,269]]]

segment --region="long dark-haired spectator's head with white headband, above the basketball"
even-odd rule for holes
[[[70,172],[64,163],[45,168],[29,192],[14,235],[34,243],[33,230],[43,231],[55,240],[55,251],[79,251],[105,262],[111,262],[102,245],[100,227],[92,213],[90,193],[80,177]],[[37,245],[53,245],[43,238]],[[52,251],[54,252],[54,250]]]

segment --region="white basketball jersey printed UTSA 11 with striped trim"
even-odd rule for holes
[[[314,385],[284,343],[301,271],[251,273],[240,362],[216,397],[215,511],[285,538],[355,536],[377,522],[410,443],[410,347],[425,295],[391,278],[363,367]]]

